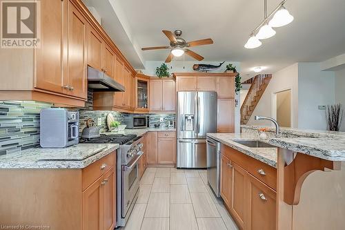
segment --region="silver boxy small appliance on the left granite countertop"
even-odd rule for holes
[[[79,142],[79,112],[65,108],[43,108],[40,113],[42,148],[65,148]]]

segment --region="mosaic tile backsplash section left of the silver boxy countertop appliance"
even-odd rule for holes
[[[0,155],[39,146],[39,112],[51,104],[0,102]]]

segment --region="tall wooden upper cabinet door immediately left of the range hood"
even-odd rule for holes
[[[86,99],[86,35],[88,22],[70,2],[68,12],[68,86],[69,95]]]

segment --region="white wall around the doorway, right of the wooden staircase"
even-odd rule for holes
[[[262,98],[260,99],[253,115],[248,121],[248,125],[263,125],[263,126],[273,126],[272,122],[259,120],[255,121],[255,115],[262,115],[266,117],[275,117],[272,113],[272,99],[274,93],[279,91],[291,89],[292,95],[292,117],[291,127],[297,128],[298,126],[298,64],[293,64],[277,73],[273,73],[272,79],[268,84]]]

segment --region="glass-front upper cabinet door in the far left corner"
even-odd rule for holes
[[[150,77],[137,74],[135,77],[135,86],[137,93],[135,95],[135,110],[139,112],[148,112],[149,111],[149,85]]]

